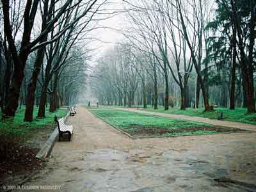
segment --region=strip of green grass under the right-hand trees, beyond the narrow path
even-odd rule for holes
[[[256,113],[247,113],[246,108],[236,108],[235,110],[230,110],[227,108],[216,108],[215,111],[204,112],[204,108],[187,108],[186,110],[180,110],[179,108],[169,108],[168,111],[164,111],[164,108],[159,106],[159,109],[157,110],[154,110],[151,107],[143,110],[160,113],[172,113],[177,115],[201,116],[211,119],[217,119],[216,112],[219,111],[223,113],[223,120],[256,125]]]

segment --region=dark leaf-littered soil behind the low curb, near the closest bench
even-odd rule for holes
[[[24,134],[0,132],[0,186],[19,184],[42,168],[44,162],[36,154],[53,130],[47,125]]]

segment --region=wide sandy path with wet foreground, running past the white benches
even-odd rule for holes
[[[47,166],[26,185],[67,192],[256,191],[214,182],[256,183],[255,132],[133,140],[84,108],[67,123],[72,140],[57,142]]]

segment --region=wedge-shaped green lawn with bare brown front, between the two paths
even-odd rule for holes
[[[145,115],[118,109],[90,109],[90,111],[114,127],[131,136],[184,136],[194,134],[214,134],[216,132],[236,132],[241,129],[216,127],[210,124],[178,120],[161,116]]]

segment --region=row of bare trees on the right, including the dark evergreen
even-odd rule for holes
[[[255,113],[255,1],[140,0],[125,1],[125,9],[131,22],[125,43],[97,65],[99,100],[131,106],[137,97],[157,109],[161,90],[166,110],[175,100],[186,109],[193,98],[194,107],[202,100],[205,111],[220,104]]]

